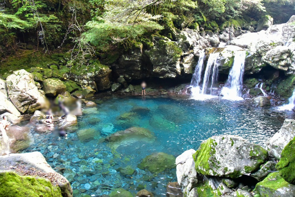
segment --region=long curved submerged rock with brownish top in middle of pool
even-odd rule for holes
[[[154,134],[141,127],[131,127],[123,131],[118,131],[105,139],[108,142],[107,146],[112,149],[117,149],[121,145],[127,145],[136,141],[152,143],[154,140]]]

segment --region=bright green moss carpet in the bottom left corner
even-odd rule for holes
[[[0,173],[0,194],[5,197],[59,197],[60,188],[44,178],[19,176],[14,172]]]

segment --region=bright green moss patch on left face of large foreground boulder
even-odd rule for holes
[[[215,154],[215,140],[209,138],[201,143],[198,150],[193,154],[193,158],[195,160],[196,171],[198,173],[204,175],[210,175],[210,165],[209,162],[212,163],[211,156]],[[213,172],[214,174],[214,172]]]

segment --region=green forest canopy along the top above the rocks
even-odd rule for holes
[[[294,8],[295,0],[5,1],[0,5],[0,52],[10,53],[18,42],[37,43],[46,51],[65,43],[107,51],[118,45],[130,47],[139,38],[174,28],[182,20],[189,25],[213,20],[221,25],[230,19],[259,20],[270,14],[282,23]]]

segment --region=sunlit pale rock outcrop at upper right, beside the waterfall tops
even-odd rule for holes
[[[272,25],[259,32],[246,33],[227,42],[228,45],[249,50],[245,62],[246,74],[258,73],[265,65],[285,71],[287,75],[295,73],[294,22],[295,15],[287,23]]]

